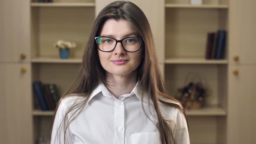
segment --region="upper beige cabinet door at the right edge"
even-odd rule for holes
[[[230,0],[231,64],[256,63],[256,0]],[[239,61],[233,60],[239,56]]]

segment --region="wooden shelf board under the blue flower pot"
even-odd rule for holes
[[[32,63],[81,63],[82,58],[60,59],[59,57],[35,57],[31,59]]]

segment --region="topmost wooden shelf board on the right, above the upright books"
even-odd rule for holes
[[[166,8],[228,9],[228,5],[165,4]]]

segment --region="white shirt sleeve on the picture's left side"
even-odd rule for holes
[[[68,117],[65,119],[65,126],[64,126],[63,118],[66,114],[66,107],[67,105],[66,105],[65,99],[63,99],[59,104],[59,108],[56,111],[50,144],[64,144],[64,131],[67,127],[68,119],[69,119]],[[69,128],[67,128],[66,130],[65,144],[73,144],[72,135],[70,133]]]

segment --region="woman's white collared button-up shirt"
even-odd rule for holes
[[[157,118],[149,113],[150,109],[151,112],[154,109],[147,107],[150,104],[144,102],[144,98],[147,98],[145,94],[143,92],[144,110],[152,121],[143,111],[142,91],[138,82],[130,94],[121,95],[119,98],[112,95],[100,82],[81,113],[67,128],[67,144],[160,144],[159,132],[155,125]],[[76,98],[79,97],[64,98],[59,104],[53,124],[51,144],[64,144],[64,123],[58,133],[57,130]],[[176,102],[173,101],[173,103]],[[190,144],[187,122],[183,113],[178,108],[161,102],[160,110],[164,118],[171,120],[177,144]],[[72,114],[72,112],[69,113],[68,119]],[[66,120],[65,128],[67,122]]]

